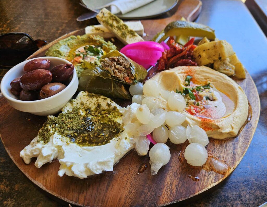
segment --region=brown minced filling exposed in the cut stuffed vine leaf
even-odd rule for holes
[[[111,75],[117,77],[119,80],[133,83],[135,79],[130,63],[124,57],[109,57],[105,58],[101,65],[104,70],[108,70]]]

